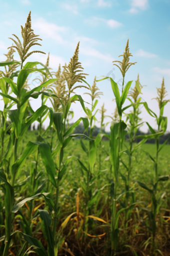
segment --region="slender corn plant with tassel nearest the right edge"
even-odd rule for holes
[[[148,211],[148,218],[150,221],[150,228],[152,232],[152,245],[154,249],[154,241],[155,241],[155,233],[156,233],[156,214],[158,213],[159,207],[161,205],[161,200],[164,196],[164,192],[161,194],[157,193],[157,185],[160,181],[167,181],[169,179],[169,175],[166,176],[159,176],[158,175],[158,154],[160,150],[165,146],[168,139],[160,146],[159,145],[159,137],[163,135],[166,131],[167,127],[167,117],[163,116],[163,110],[164,106],[167,104],[169,100],[164,99],[164,97],[167,95],[165,91],[164,86],[164,78],[162,79],[161,88],[157,88],[157,94],[158,96],[155,98],[158,102],[159,106],[159,116],[157,116],[153,111],[150,110],[150,114],[155,117],[156,123],[157,123],[157,132],[149,125],[148,122],[146,122],[151,134],[145,135],[145,136],[137,136],[137,138],[141,139],[155,139],[156,144],[156,155],[153,158],[149,153],[148,156],[154,163],[154,180],[151,180],[152,188],[150,189],[147,187],[145,183],[142,183],[140,181],[137,181],[139,186],[147,190],[151,194],[152,199],[152,209]]]

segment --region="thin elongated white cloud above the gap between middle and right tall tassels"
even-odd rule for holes
[[[122,26],[122,23],[120,23],[118,21],[115,21],[112,19],[106,20],[106,19],[98,18],[98,17],[91,17],[91,18],[85,20],[85,22],[87,24],[89,24],[90,26],[97,26],[100,24],[105,24],[106,26],[108,26],[111,29],[119,28]]]

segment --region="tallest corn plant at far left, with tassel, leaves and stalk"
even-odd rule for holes
[[[28,31],[27,31],[27,29],[28,29]],[[23,42],[25,42],[25,40],[26,40],[26,42],[28,43],[29,39],[30,39],[30,45],[27,45],[27,43],[25,43],[25,46],[22,47],[20,41],[18,41],[19,45],[15,40],[13,40],[13,41],[16,44],[15,48],[17,48],[17,51],[26,49],[26,52],[27,52],[28,51],[27,48],[30,48],[34,44],[34,43],[32,43],[32,37],[34,37],[34,34],[32,32],[33,30],[31,29],[30,13],[28,15],[25,27],[24,27],[24,29],[21,27],[21,31],[22,31],[21,33],[22,33],[22,37],[23,37]],[[27,46],[27,48],[24,48],[26,46]],[[14,47],[14,46],[12,46],[12,47]],[[20,48],[20,50],[18,50],[18,47]],[[22,56],[20,55],[21,68],[22,68],[23,61],[28,57],[28,56],[25,56],[25,54],[26,53],[23,50]],[[2,63],[0,63],[0,65],[6,66],[9,64],[15,64],[15,63],[18,63],[18,62],[6,61],[6,63],[2,62]],[[5,153],[5,155],[2,159],[2,165],[1,165],[1,169],[0,169],[0,179],[4,183],[4,189],[5,189],[5,200],[4,200],[4,203],[5,203],[5,240],[4,240],[3,256],[8,254],[8,249],[9,249],[10,240],[11,240],[11,222],[12,222],[12,218],[13,218],[13,212],[15,212],[13,209],[13,203],[14,203],[14,185],[15,185],[15,180],[17,177],[16,175],[18,174],[19,169],[23,166],[24,160],[25,160],[26,156],[30,153],[30,148],[31,148],[30,147],[31,143],[29,143],[27,145],[27,147],[25,148],[25,150],[23,151],[22,155],[18,158],[18,155],[17,155],[18,143],[20,143],[21,139],[23,138],[25,132],[28,129],[28,126],[33,121],[35,121],[38,118],[39,114],[44,112],[44,110],[47,108],[46,106],[40,107],[31,116],[25,118],[24,113],[25,113],[25,110],[27,107],[27,102],[30,97],[35,96],[35,94],[36,94],[36,93],[34,94],[35,91],[38,92],[38,91],[40,91],[40,89],[43,86],[47,86],[47,84],[53,82],[53,79],[49,79],[46,83],[43,83],[42,85],[40,85],[30,91],[27,91],[24,88],[24,83],[27,79],[27,76],[30,73],[38,71],[40,73],[43,73],[45,76],[47,76],[46,73],[43,72],[41,69],[34,68],[34,66],[36,64],[39,64],[39,63],[38,62],[35,62],[35,63],[27,62],[25,64],[25,66],[18,72],[16,84],[12,81],[11,78],[6,78],[6,77],[1,78],[1,84],[4,85],[5,82],[7,84],[9,84],[9,86],[12,90],[12,93],[14,93],[16,97],[14,98],[14,97],[10,96],[9,94],[7,94],[7,90],[0,93],[0,95],[7,100],[10,99],[12,101],[12,103],[16,104],[16,106],[17,106],[16,109],[12,109],[12,110],[10,108],[5,109],[12,124],[11,124],[11,135],[10,135],[11,139],[9,140],[7,152]],[[44,65],[42,65],[42,66],[44,66]],[[37,97],[37,95],[35,96],[35,98],[36,97]],[[5,164],[8,161],[9,157],[10,157],[10,164],[11,164],[11,178],[10,178],[10,180],[7,180],[5,173],[3,172],[3,168],[5,167]]]

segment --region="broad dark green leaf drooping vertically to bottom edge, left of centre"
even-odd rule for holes
[[[41,227],[45,240],[47,241],[48,255],[54,256],[54,238],[50,229],[51,217],[46,210],[38,210],[41,218]]]

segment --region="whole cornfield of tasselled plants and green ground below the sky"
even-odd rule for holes
[[[122,61],[113,61],[122,74],[119,88],[111,77],[95,77],[92,85],[84,80],[79,42],[70,62],[56,72],[50,71],[49,54],[45,64],[25,63],[31,54],[43,54],[29,52],[41,40],[31,29],[30,13],[21,26],[23,43],[12,36],[14,45],[0,62],[0,255],[168,256],[169,138],[160,143],[166,135],[163,110],[169,102],[164,78],[154,99],[159,113],[154,113],[141,100],[139,75],[133,88],[132,81],[124,82],[135,64],[129,62],[128,40]],[[15,50],[19,61],[13,59]],[[40,85],[30,88],[28,75],[37,72]],[[110,80],[116,102],[109,133],[104,104],[97,108],[103,93],[96,84],[104,79]],[[88,107],[76,94],[81,87],[91,99]],[[31,100],[38,97],[41,106],[34,111]],[[77,101],[85,117],[71,123],[70,107]],[[157,127],[146,122],[149,133],[137,135],[144,122],[141,104]],[[97,111],[100,127],[94,135]],[[152,139],[155,143],[147,144]]]

